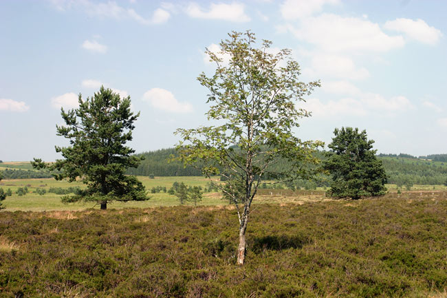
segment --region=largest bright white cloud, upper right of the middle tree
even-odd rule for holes
[[[284,30],[284,28],[280,28]],[[309,17],[298,28],[285,26],[296,38],[316,45],[325,52],[387,52],[404,46],[400,35],[389,36],[377,23],[356,17],[340,17],[336,14],[321,14]]]

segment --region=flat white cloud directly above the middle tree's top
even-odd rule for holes
[[[197,3],[190,3],[186,7],[186,14],[195,19],[215,19],[232,22],[248,22],[250,17],[244,12],[245,6],[241,3],[211,3],[208,11]]]

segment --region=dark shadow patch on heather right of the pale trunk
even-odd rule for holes
[[[304,244],[309,242],[309,238],[304,235],[268,235],[255,237],[251,250],[254,253],[262,253],[263,251],[282,251],[288,248],[302,248]]]

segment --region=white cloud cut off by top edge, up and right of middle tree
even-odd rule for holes
[[[281,4],[281,15],[286,20],[309,17],[320,12],[325,4],[338,4],[339,0],[285,0]]]

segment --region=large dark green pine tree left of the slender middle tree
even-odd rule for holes
[[[134,176],[125,175],[128,167],[138,167],[141,158],[132,156],[134,150],[126,147],[132,140],[133,123],[138,114],[131,111],[130,96],[120,98],[111,89],[100,88],[93,97],[83,100],[79,107],[61,115],[65,126],[56,125],[58,136],[70,141],[69,147],[56,147],[63,159],[50,164],[56,180],[70,182],[82,178],[87,189],[75,195],[65,195],[63,202],[79,200],[97,202],[101,209],[113,200],[148,200],[143,184]],[[34,159],[33,167],[46,167]]]

